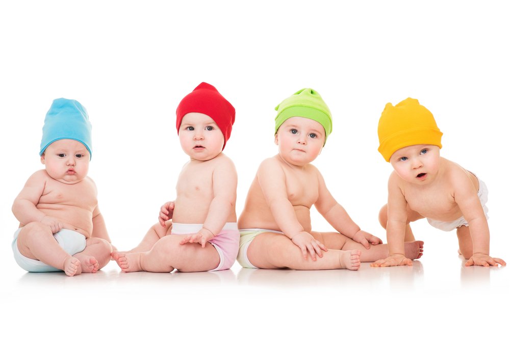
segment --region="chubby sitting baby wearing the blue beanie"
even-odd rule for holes
[[[29,272],[96,273],[110,261],[112,246],[87,176],[92,156],[91,124],[73,99],[53,101],[42,129],[41,163],[14,200],[19,221],[12,250]]]

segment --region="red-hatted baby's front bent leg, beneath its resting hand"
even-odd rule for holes
[[[164,236],[152,249],[142,253],[118,253],[117,264],[124,272],[203,272],[218,267],[219,254],[210,243],[181,245],[184,235]]]

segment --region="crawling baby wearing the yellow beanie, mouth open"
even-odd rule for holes
[[[440,157],[442,132],[418,100],[386,104],[379,120],[379,152],[395,170],[388,181],[388,204],[379,221],[387,229],[390,255],[371,266],[411,265],[404,241],[413,241],[410,222],[427,218],[444,231],[457,229],[466,266],[506,265],[489,256],[487,187],[475,174]]]

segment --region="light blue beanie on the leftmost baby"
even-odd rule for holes
[[[44,119],[39,155],[42,155],[46,147],[54,141],[72,139],[85,145],[92,158],[91,131],[89,115],[79,101],[66,98],[55,99]]]

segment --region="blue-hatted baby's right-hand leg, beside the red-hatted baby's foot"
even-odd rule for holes
[[[73,256],[80,260],[82,273],[96,273],[110,262],[112,246],[103,238],[87,238],[85,249]]]

